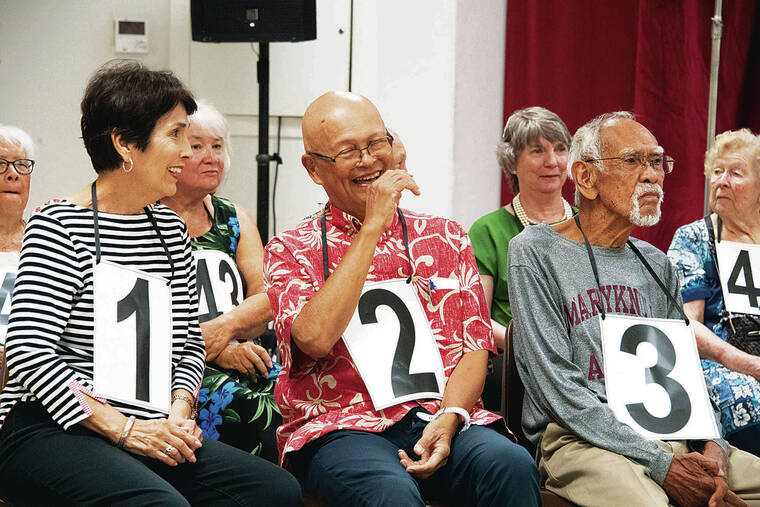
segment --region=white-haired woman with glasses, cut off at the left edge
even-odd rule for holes
[[[18,127],[0,125],[0,391],[8,377],[5,331],[26,226],[22,215],[29,200],[33,157],[34,146],[29,134]]]

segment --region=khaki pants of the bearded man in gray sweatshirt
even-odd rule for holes
[[[674,454],[689,450],[682,440],[658,441]],[[760,506],[760,458],[730,447],[728,486],[752,506]],[[581,506],[664,506],[668,495],[643,466],[594,447],[550,423],[541,440],[539,470],[545,488]]]

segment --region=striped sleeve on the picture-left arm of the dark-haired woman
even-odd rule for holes
[[[24,235],[6,339],[10,375],[33,393],[64,429],[91,415],[89,391],[57,353],[83,287],[86,267],[55,218],[33,215]]]

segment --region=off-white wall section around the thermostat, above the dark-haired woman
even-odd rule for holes
[[[0,0],[0,123],[25,129],[37,165],[27,211],[94,179],[79,129],[90,75],[116,57],[113,19],[148,20],[153,68],[169,61],[169,4],[155,0]]]

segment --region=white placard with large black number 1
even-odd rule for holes
[[[169,412],[171,291],[166,279],[95,266],[95,394]]]

